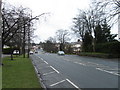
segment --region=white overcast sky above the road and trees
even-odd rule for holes
[[[47,20],[37,23],[34,39],[36,43],[55,36],[56,30],[68,29],[72,26],[72,18],[78,14],[78,9],[87,9],[91,0],[4,0],[12,5],[29,7],[33,16],[50,12]],[[115,31],[116,33],[117,31]]]

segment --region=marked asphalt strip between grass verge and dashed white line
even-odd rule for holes
[[[41,57],[36,57],[35,55],[30,57],[43,88],[47,90],[81,90]]]

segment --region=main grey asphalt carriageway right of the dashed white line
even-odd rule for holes
[[[65,78],[58,83],[66,80],[76,88],[118,88],[118,77],[120,76],[118,70],[120,68],[118,68],[117,60],[77,55],[59,56],[42,52],[32,56],[42,59]],[[39,61],[39,59],[36,60]],[[39,63],[36,64],[40,66]],[[47,71],[46,75],[54,74],[54,71]]]

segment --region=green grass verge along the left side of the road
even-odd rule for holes
[[[41,88],[30,59],[5,57],[3,64],[2,88]]]

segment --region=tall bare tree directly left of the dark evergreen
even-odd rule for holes
[[[72,30],[79,34],[83,43],[85,43],[84,39],[86,32],[89,33],[92,39],[91,44],[93,46],[93,51],[95,51],[95,27],[96,25],[101,24],[105,18],[106,14],[104,10],[99,10],[98,6],[93,4],[88,10],[79,10],[79,14],[73,18],[74,26],[72,27]]]

